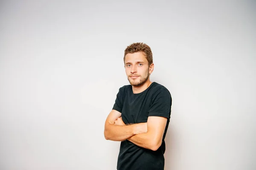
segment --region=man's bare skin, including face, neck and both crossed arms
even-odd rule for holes
[[[132,85],[134,94],[145,91],[151,81],[149,75],[154,70],[154,64],[148,61],[141,52],[125,56],[125,73]],[[148,116],[146,123],[125,125],[121,113],[112,110],[105,122],[105,138],[113,141],[129,140],[132,143],[150,150],[157,150],[163,139],[167,118]]]

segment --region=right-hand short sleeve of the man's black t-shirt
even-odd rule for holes
[[[148,116],[161,116],[169,118],[172,106],[172,97],[167,88],[158,89],[153,94]]]

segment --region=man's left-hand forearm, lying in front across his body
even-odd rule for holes
[[[144,124],[145,125],[145,124]],[[143,124],[133,124],[133,125],[113,125],[108,124],[105,127],[105,139],[112,141],[124,141],[131,136],[139,133],[143,133]],[[145,125],[146,126],[146,125]]]

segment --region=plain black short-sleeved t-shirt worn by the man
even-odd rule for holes
[[[153,151],[125,140],[121,142],[117,170],[163,170],[165,136],[170,122],[172,97],[163,85],[152,82],[143,92],[134,94],[131,85],[119,88],[113,110],[122,113],[125,124],[147,122],[148,116],[167,118],[162,145]]]

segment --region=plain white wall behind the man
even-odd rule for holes
[[[256,169],[253,1],[1,1],[0,169],[114,170],[104,122],[145,42],[172,94],[166,170]]]

